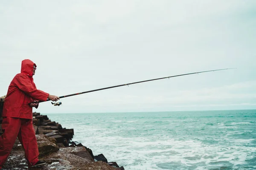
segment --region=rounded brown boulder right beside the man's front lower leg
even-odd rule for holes
[[[46,156],[59,150],[58,146],[50,142],[45,135],[36,135],[36,139],[38,142],[39,156]]]

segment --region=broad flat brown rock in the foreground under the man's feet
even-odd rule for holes
[[[85,154],[84,154],[85,153]],[[47,165],[31,170],[118,170],[102,161],[93,161],[84,147],[64,147],[40,157]],[[28,170],[23,150],[12,150],[3,170]]]

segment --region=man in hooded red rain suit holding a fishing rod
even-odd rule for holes
[[[32,124],[32,108],[38,108],[38,103],[31,102],[46,101],[47,99],[57,101],[60,98],[36,88],[33,81],[35,70],[34,62],[29,59],[23,60],[21,72],[12,79],[9,85],[3,105],[0,169],[7,160],[17,137],[25,150],[28,167],[46,164],[38,160],[38,144]]]

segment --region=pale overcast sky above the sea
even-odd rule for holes
[[[23,59],[71,96],[41,113],[256,109],[256,0],[0,1],[0,96]]]

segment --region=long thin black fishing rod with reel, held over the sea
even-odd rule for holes
[[[200,71],[200,72],[195,72],[195,73],[180,74],[180,75],[176,75],[176,76],[162,77],[162,78],[157,78],[157,79],[149,79],[149,80],[144,80],[144,81],[140,81],[140,82],[131,82],[131,83],[127,83],[127,84],[114,85],[114,86],[110,86],[110,87],[106,87],[106,88],[99,88],[99,89],[84,91],[84,92],[75,93],[75,94],[68,94],[68,95],[65,95],[65,96],[60,96],[59,98],[61,99],[61,98],[64,98],[64,97],[70,97],[70,96],[75,96],[75,95],[79,95],[79,94],[90,93],[90,92],[93,92],[93,91],[105,90],[105,89],[108,89],[108,88],[117,88],[117,87],[125,86],[125,85],[129,86],[129,85],[137,84],[137,83],[141,83],[141,82],[149,82],[149,81],[154,81],[154,80],[159,80],[159,79],[167,79],[167,78],[171,78],[171,77],[185,76],[185,75],[189,75],[189,74],[199,74],[199,73],[205,73],[205,72],[210,72],[210,71],[220,71],[220,70],[229,70],[229,69],[235,69],[235,68],[224,68],[224,69],[218,69],[218,70]],[[38,102],[33,102],[33,103],[47,102],[49,100],[50,99],[47,99],[46,101],[38,101]],[[55,102],[55,103],[51,102],[51,103],[52,103],[52,105],[55,105],[55,106],[59,106],[59,105],[62,104],[61,102]]]

